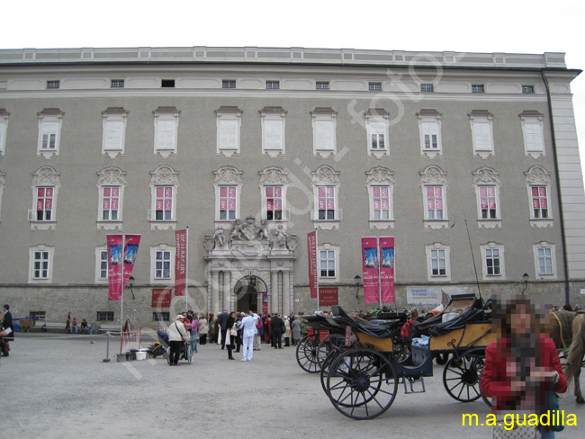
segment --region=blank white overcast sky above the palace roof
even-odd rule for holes
[[[4,2],[6,3],[6,2]],[[585,68],[583,2],[39,0],[3,4],[2,49],[260,46],[565,52]],[[585,73],[572,82],[585,162]]]

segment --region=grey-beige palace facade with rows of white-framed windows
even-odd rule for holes
[[[395,237],[399,307],[525,287],[582,304],[580,73],[563,53],[0,50],[0,298],[119,322],[106,235],[140,234],[123,318],[152,327],[185,308],[153,290],[174,287],[188,227],[198,312],[318,309],[315,229],[320,287],[347,309],[369,306],[375,236]]]

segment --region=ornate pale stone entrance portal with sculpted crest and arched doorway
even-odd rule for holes
[[[257,276],[266,283],[268,292],[266,297],[265,293],[257,293],[249,301],[249,308],[288,315],[293,309],[293,262],[297,246],[296,235],[286,233],[282,224],[270,230],[265,219],[258,222],[248,216],[245,221],[236,219],[226,222],[225,227],[218,226],[213,235],[203,238],[203,248],[208,252],[205,259],[209,312],[247,311],[238,309],[238,304],[248,305],[242,298],[243,294],[250,293],[235,291],[235,286],[246,276]]]

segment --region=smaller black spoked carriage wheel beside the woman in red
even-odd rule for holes
[[[485,353],[479,350],[451,358],[443,371],[443,384],[447,393],[461,402],[479,399],[482,396],[480,381],[484,364]]]

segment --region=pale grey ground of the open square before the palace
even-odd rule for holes
[[[143,347],[149,339],[143,337]],[[451,399],[441,366],[425,381],[426,393],[405,395],[399,387],[381,417],[356,421],[331,405],[318,374],[302,371],[293,347],[262,345],[251,363],[242,363],[205,345],[193,364],[168,367],[162,358],[117,363],[119,346],[112,338],[112,362],[103,363],[105,336],[17,334],[0,363],[0,437],[491,437],[490,427],[462,426],[462,414],[476,413],[482,422],[489,408],[481,399]],[[557,437],[582,439],[585,406],[574,402],[572,388],[560,403],[577,415],[578,427]]]

